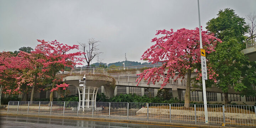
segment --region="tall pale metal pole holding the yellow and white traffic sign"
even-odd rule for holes
[[[199,21],[199,37],[200,37],[200,48],[203,48],[202,44],[202,33],[201,33],[201,20],[200,20],[200,9],[199,9],[199,0],[197,0],[198,5],[198,21]],[[200,53],[201,54],[201,53]],[[201,57],[202,58],[202,57]],[[202,63],[202,62],[201,62]],[[203,69],[203,67],[202,67]],[[203,82],[203,98],[204,98],[204,117],[205,117],[205,123],[208,123],[208,111],[207,111],[207,99],[206,99],[206,86],[205,86],[205,80],[203,79],[202,75],[202,82]]]

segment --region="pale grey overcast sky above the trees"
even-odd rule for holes
[[[256,0],[199,2],[204,30],[220,9],[244,18],[256,12]],[[102,62],[123,61],[125,53],[127,60],[143,62],[156,30],[196,27],[197,0],[0,0],[0,51],[34,49],[36,39],[73,45],[93,37],[101,41]]]

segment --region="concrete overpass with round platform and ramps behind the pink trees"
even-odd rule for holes
[[[143,87],[143,88],[155,88],[160,89],[162,81],[157,82],[155,84],[149,83],[148,81],[140,81],[140,83],[137,86],[136,80],[138,79],[138,75],[142,70],[142,68],[151,68],[151,67],[158,67],[161,66],[161,64],[150,64],[150,65],[140,65],[140,66],[129,66],[129,67],[121,67],[121,68],[112,68],[112,69],[102,69],[97,67],[77,67],[71,70],[70,75],[63,78],[63,81],[74,85],[79,86],[79,80],[82,79],[82,76],[84,74],[89,75],[92,77],[92,75],[95,75],[93,78],[90,78],[92,80],[89,80],[87,82],[87,86],[104,86],[104,89],[106,91],[106,96],[112,97],[114,94],[114,87],[110,85],[110,79],[109,76],[115,79],[117,86],[126,86],[126,87]],[[131,70],[135,69],[135,70]],[[113,74],[108,72],[117,71],[122,74]],[[127,73],[127,74],[125,74]],[[129,74],[129,73],[136,73],[136,74]],[[73,76],[74,75],[74,76]],[[197,73],[193,72],[191,74],[191,77],[196,76]],[[93,80],[94,79],[94,80]],[[109,80],[108,80],[109,79]],[[102,80],[107,80],[107,82],[102,82]],[[186,90],[186,78],[185,79],[178,79],[177,81],[170,80],[169,84],[166,84],[164,87],[166,89],[172,89],[172,94],[174,97],[178,97],[181,99],[182,96],[182,90]],[[194,88],[192,87],[191,90],[195,91],[202,91],[200,88]],[[217,87],[210,87],[206,89],[207,92],[214,92],[214,93],[222,93],[222,90],[220,90]],[[240,94],[240,92],[235,92],[233,89],[229,89],[229,94]]]

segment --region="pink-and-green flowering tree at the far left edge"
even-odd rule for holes
[[[24,81],[22,78],[32,69],[28,58],[23,56],[21,51],[17,56],[11,52],[0,53],[0,95],[1,92],[9,95],[17,95],[28,92],[27,84],[30,80]]]

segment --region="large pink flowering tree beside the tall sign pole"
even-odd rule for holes
[[[163,88],[170,79],[176,81],[178,78],[184,79],[187,75],[185,103],[190,103],[191,71],[199,69],[198,65],[201,64],[199,28],[194,30],[182,28],[176,32],[172,29],[171,31],[159,30],[156,35],[163,36],[152,39],[155,44],[144,52],[141,59],[153,64],[162,63],[162,66],[146,69],[138,74],[138,84],[142,79],[148,80],[148,84],[163,81],[161,84]],[[213,34],[202,31],[202,44],[206,53],[213,52],[219,42],[221,42],[220,39]],[[214,79],[214,77],[208,79]]]

